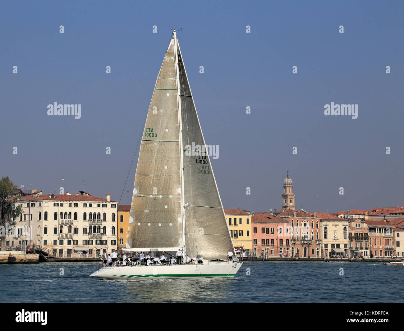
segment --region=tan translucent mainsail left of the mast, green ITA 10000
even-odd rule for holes
[[[128,246],[183,247],[174,39],[158,74],[137,163]]]

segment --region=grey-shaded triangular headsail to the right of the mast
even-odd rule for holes
[[[205,259],[224,259],[234,252],[222,202],[191,94],[181,50],[177,47],[181,98],[182,141],[184,150],[185,242],[187,254]]]

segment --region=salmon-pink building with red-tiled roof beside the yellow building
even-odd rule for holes
[[[253,213],[253,254],[264,258],[290,257],[289,231],[288,222],[273,213]]]

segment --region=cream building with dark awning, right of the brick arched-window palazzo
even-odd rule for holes
[[[321,219],[322,252],[324,257],[349,256],[349,221],[336,215],[316,213]]]

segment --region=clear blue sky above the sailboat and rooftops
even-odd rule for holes
[[[76,192],[84,179],[91,194],[123,191],[127,204],[156,76],[171,29],[183,28],[225,208],[280,209],[287,169],[297,209],[403,205],[402,2],[0,4],[0,175],[19,186]],[[81,104],[81,118],[47,116],[55,101]],[[358,118],[324,116],[331,102],[358,104]]]

